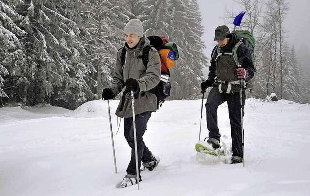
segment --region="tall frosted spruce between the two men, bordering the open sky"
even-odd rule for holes
[[[202,65],[207,57],[203,54],[202,18],[197,1],[171,0],[169,13],[173,16],[168,33],[180,51],[180,58],[171,69],[171,99],[194,99],[200,95],[199,85],[203,79]],[[181,76],[181,77],[180,77]]]

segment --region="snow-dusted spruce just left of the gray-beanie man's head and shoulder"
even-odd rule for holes
[[[124,0],[81,0],[83,45],[87,60],[88,83],[100,98],[112,81],[117,50],[124,44],[124,24],[132,15]],[[87,32],[87,33],[85,33]]]

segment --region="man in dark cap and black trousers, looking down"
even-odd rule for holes
[[[205,104],[207,113],[207,128],[209,139],[207,142],[214,149],[220,147],[221,134],[217,125],[217,108],[227,101],[228,114],[231,125],[233,156],[231,163],[242,163],[242,131],[241,131],[241,111],[240,111],[240,80],[242,86],[242,111],[246,100],[246,81],[254,76],[254,64],[251,54],[245,44],[240,44],[237,48],[237,57],[241,64],[236,64],[232,49],[240,41],[234,33],[230,33],[227,26],[222,25],[215,29],[215,38],[218,45],[214,47],[211,54],[211,66],[209,67],[208,80],[201,83],[202,93],[208,87],[212,87],[207,103]],[[218,48],[219,47],[219,48]],[[219,49],[218,55],[217,49]],[[244,111],[243,114],[244,116]]]

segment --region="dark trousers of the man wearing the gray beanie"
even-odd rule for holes
[[[136,120],[136,136],[137,136],[137,153],[138,153],[138,166],[139,166],[139,176],[140,176],[140,167],[141,160],[143,163],[152,159],[152,153],[145,146],[143,141],[143,135],[146,130],[146,124],[151,117],[151,111],[143,112],[141,114],[135,115]],[[125,138],[131,147],[131,159],[127,168],[127,174],[136,174],[136,155],[135,155],[135,140],[134,140],[134,129],[133,121],[131,118],[124,118],[124,135]]]

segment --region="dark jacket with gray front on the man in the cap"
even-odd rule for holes
[[[227,81],[238,81],[236,76],[236,69],[238,66],[236,65],[235,61],[233,60],[233,55],[226,55],[232,54],[233,47],[240,41],[240,38],[236,36],[236,34],[231,33],[227,36],[229,38],[229,42],[226,46],[220,47],[220,53],[224,53],[223,56],[211,55],[211,66],[209,67],[209,77],[208,79],[214,81],[215,86],[219,86],[222,83],[221,89],[224,91],[227,90],[228,84]],[[217,53],[217,47],[215,46],[212,50],[212,54]],[[255,68],[252,62],[251,54],[248,47],[245,44],[240,44],[237,48],[237,56],[242,68],[244,68],[248,74],[246,80],[251,79],[254,76]],[[225,81],[225,82],[218,82]],[[243,85],[242,85],[243,86]],[[243,90],[246,87],[243,86]],[[239,92],[240,87],[237,84],[232,85],[231,92]]]

